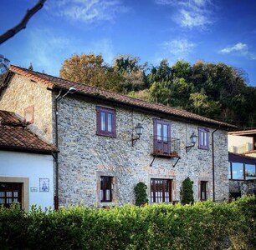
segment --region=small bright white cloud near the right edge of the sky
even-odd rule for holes
[[[256,55],[249,52],[248,45],[246,43],[238,42],[237,44],[229,47],[224,47],[219,52],[224,54],[235,54],[239,56],[248,57],[251,60],[256,60]]]

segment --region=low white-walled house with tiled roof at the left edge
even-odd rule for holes
[[[0,205],[54,206],[54,158],[57,149],[27,129],[13,112],[0,110]]]

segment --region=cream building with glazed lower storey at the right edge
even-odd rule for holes
[[[233,198],[256,194],[256,129],[228,133],[229,191]]]

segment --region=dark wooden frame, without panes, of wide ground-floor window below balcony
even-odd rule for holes
[[[156,192],[157,192],[156,185],[158,184],[156,182],[162,182],[161,197],[156,197]],[[167,183],[167,187],[166,187],[166,183]],[[165,194],[166,188],[169,193],[169,201],[166,201],[166,194]],[[151,203],[172,203],[172,179],[151,178],[150,192],[151,192]],[[162,200],[160,201],[160,199]]]

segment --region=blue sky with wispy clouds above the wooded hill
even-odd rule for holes
[[[37,0],[1,0],[0,33]],[[255,0],[47,0],[28,26],[0,45],[12,64],[59,76],[74,53],[118,54],[158,65],[167,58],[224,62],[256,86]]]

